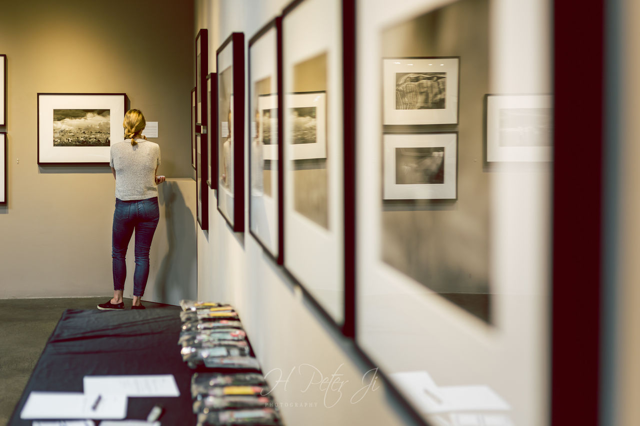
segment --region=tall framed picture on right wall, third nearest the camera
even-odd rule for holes
[[[282,264],[282,132],[278,118],[282,68],[278,67],[282,20],[278,17],[249,41],[249,232]]]

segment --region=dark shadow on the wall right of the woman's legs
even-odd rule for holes
[[[196,230],[193,212],[186,205],[177,182],[159,186],[158,200],[164,206],[164,226],[168,245],[156,276],[154,293],[163,303],[179,304],[180,299],[197,298]]]

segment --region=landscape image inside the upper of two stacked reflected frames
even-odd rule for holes
[[[396,109],[445,109],[446,72],[396,72]]]

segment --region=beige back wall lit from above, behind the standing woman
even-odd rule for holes
[[[179,6],[154,0],[3,2],[8,205],[0,207],[0,298],[98,296],[112,288],[111,171],[108,166],[38,166],[36,93],[127,93],[131,107],[159,122],[160,137],[152,139],[161,145],[159,173],[193,178],[193,2]],[[175,198],[188,191],[182,198],[193,202],[195,184],[191,191],[188,183],[175,182],[168,182],[164,195]],[[163,217],[175,217],[178,213],[167,206]],[[193,207],[183,203],[180,214],[188,217],[189,211]],[[191,242],[180,237],[173,244],[195,247],[195,231],[186,235]],[[173,267],[188,269],[187,264],[163,264],[169,248],[160,249],[161,240],[154,242],[161,253],[152,257],[152,270],[154,262],[169,276],[179,275],[170,271]],[[195,258],[195,248],[192,254]],[[192,280],[195,285],[195,269]]]

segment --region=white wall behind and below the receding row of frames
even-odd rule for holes
[[[217,47],[232,31],[244,32],[246,55],[248,40],[287,3],[196,1],[194,37],[199,28],[209,29],[209,71],[215,70]],[[247,168],[245,159],[245,173]],[[198,230],[198,299],[236,307],[276,401],[284,404],[285,424],[412,424],[377,376],[367,375],[365,383],[374,385],[368,393],[360,391],[366,368],[351,343],[328,326],[250,233],[230,230],[216,210],[213,191],[209,200],[210,229]],[[244,217],[248,229],[248,207]],[[332,380],[333,387],[323,388],[321,376]]]

